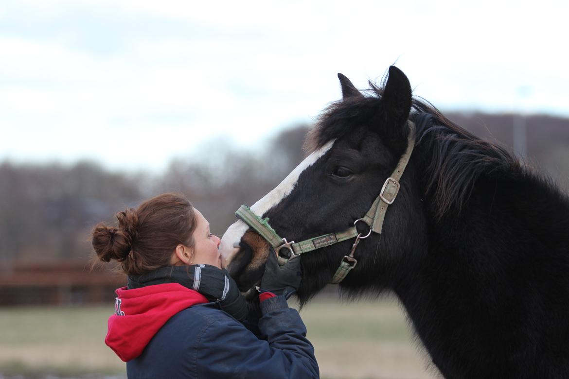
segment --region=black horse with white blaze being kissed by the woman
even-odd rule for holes
[[[310,155],[244,208],[282,246],[243,214],[222,238],[240,289],[251,293],[277,249],[301,259],[302,305],[343,265],[347,297],[398,297],[444,377],[569,378],[567,194],[413,97],[395,66],[363,91],[338,77],[343,96],[308,133]],[[301,240],[314,249],[299,258]]]

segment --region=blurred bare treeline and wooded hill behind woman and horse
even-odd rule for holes
[[[512,146],[518,115],[452,114],[453,121],[485,139]],[[518,120],[519,121],[519,120]],[[569,188],[569,120],[528,116],[527,156]],[[109,172],[81,161],[20,165],[0,163],[0,265],[13,260],[88,260],[90,230],[125,207],[164,191],[187,195],[221,235],[241,203],[252,204],[274,188],[304,156],[308,125],[290,128],[247,151],[216,141],[185,159],[171,162],[161,174]],[[215,153],[213,153],[215,152]]]

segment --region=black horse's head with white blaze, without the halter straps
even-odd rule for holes
[[[391,66],[383,88],[372,84],[370,93],[357,90],[342,74],[338,77],[343,98],[325,110],[307,136],[310,154],[250,207],[255,215],[268,218],[287,241],[310,240],[353,227],[372,207],[408,148],[412,100],[405,74]],[[397,198],[386,211],[381,234],[358,241],[357,265],[341,282],[343,288],[381,290],[398,277],[397,271],[419,264],[426,222],[422,194],[413,185],[415,170],[411,159]],[[362,236],[368,234],[365,223],[357,223],[356,228]],[[302,255],[301,301],[331,281],[353,244],[354,238],[324,243]],[[238,220],[224,234],[220,250],[224,266],[246,291],[258,284],[271,245]]]

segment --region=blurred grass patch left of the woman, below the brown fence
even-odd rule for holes
[[[125,373],[104,343],[113,312],[112,304],[0,309],[0,372]]]

